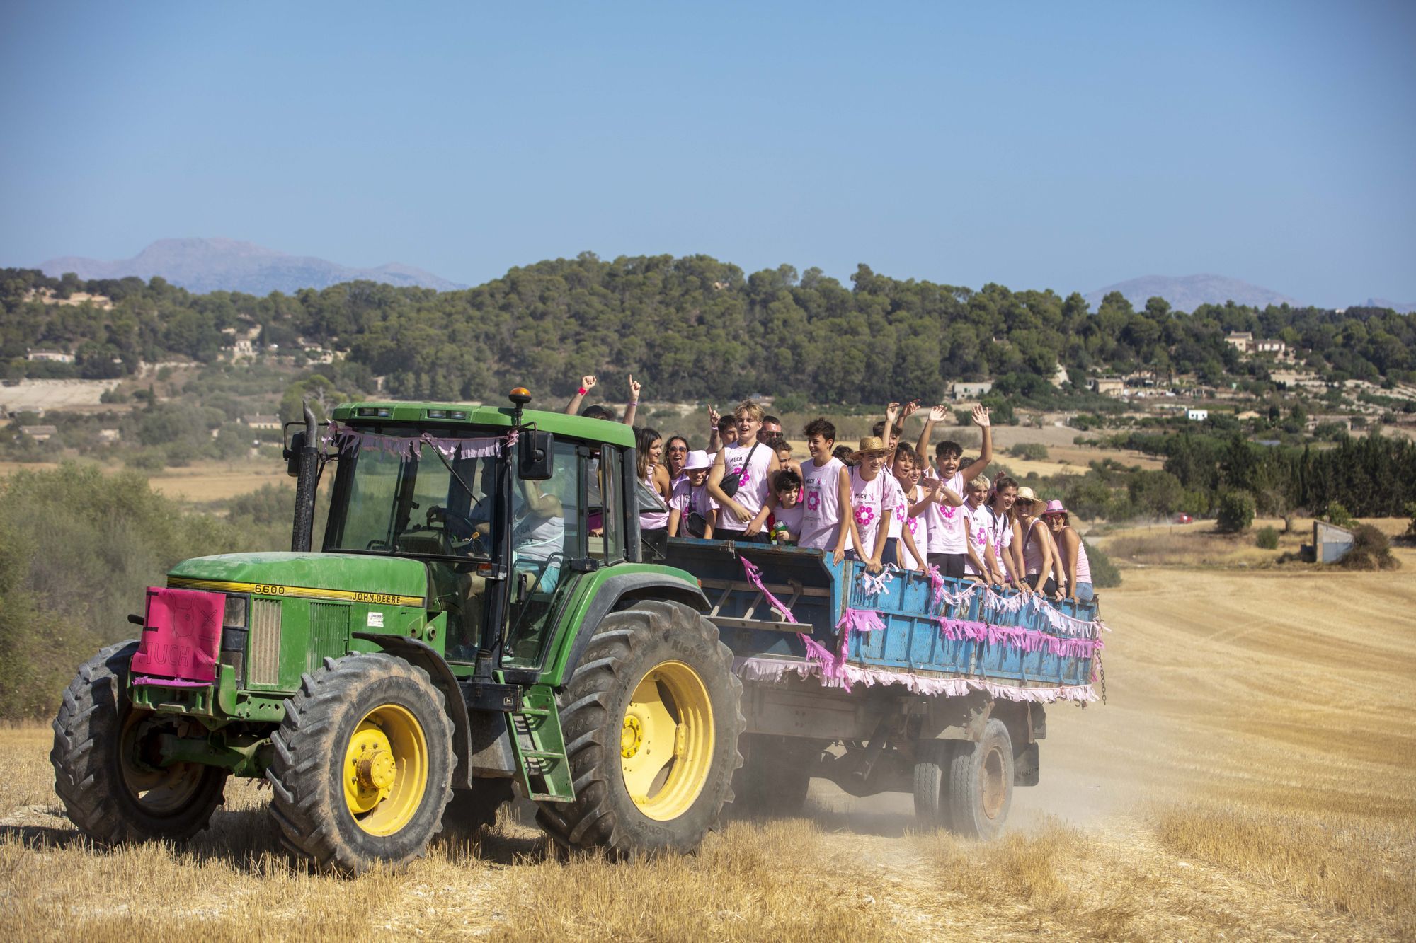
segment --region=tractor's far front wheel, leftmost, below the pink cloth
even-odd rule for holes
[[[54,791],[69,821],[102,845],[190,838],[211,821],[227,786],[218,766],[143,762],[159,731],[197,731],[184,718],[133,709],[127,664],[136,651],[135,639],[79,665],[54,718]]]

